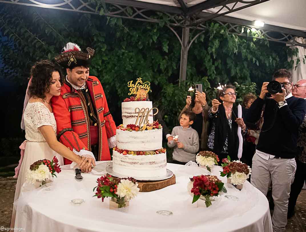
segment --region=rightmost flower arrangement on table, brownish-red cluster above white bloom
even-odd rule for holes
[[[227,177],[234,185],[242,185],[248,179],[252,169],[250,166],[242,163],[241,161],[230,161],[230,156],[222,160],[223,171],[220,171],[222,177]],[[242,187],[241,187],[242,188]]]

